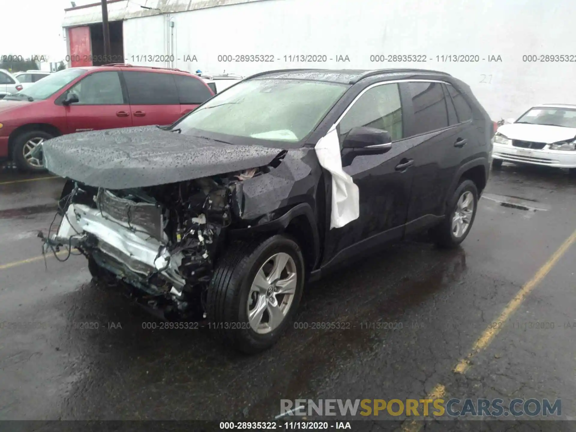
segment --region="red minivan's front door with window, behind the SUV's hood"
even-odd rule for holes
[[[132,126],[130,105],[117,71],[86,75],[56,101],[62,104],[68,93],[78,95],[78,102],[65,106],[66,133]]]

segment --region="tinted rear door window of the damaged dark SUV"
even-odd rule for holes
[[[409,82],[414,107],[414,131],[412,135],[448,127],[448,111],[444,90],[439,82]]]

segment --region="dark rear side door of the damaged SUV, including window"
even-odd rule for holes
[[[415,140],[408,156],[414,159],[406,226],[408,234],[437,221],[444,213],[442,204],[455,168],[454,161],[450,161],[447,155],[454,150],[457,130],[453,123],[453,109],[450,111],[450,125],[441,82],[403,82],[401,88],[412,101],[408,109],[414,118],[408,130],[408,135]]]

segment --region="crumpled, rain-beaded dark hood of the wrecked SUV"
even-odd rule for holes
[[[79,132],[43,144],[44,166],[61,177],[108,189],[176,183],[270,164],[281,153],[231,145],[156,126]]]

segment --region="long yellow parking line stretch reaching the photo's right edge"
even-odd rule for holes
[[[483,334],[480,335],[480,338],[478,338],[478,340],[476,340],[476,342],[473,344],[470,353],[465,358],[461,359],[456,365],[456,367],[454,367],[455,373],[465,373],[468,370],[468,368],[470,367],[470,360],[472,359],[472,357],[474,357],[481,350],[483,350],[483,348],[486,348],[488,344],[490,344],[490,342],[492,342],[492,339],[494,339],[494,336],[498,334],[500,329],[503,327],[505,321],[509,319],[510,315],[513,314],[514,311],[518,309],[518,306],[520,306],[522,301],[524,301],[526,295],[528,295],[530,291],[532,291],[542,281],[542,279],[544,279],[544,277],[548,274],[550,270],[552,270],[552,267],[556,265],[558,260],[570,248],[570,246],[574,243],[574,241],[576,241],[576,230],[574,230],[572,235],[568,237],[562,243],[562,245],[560,245],[558,250],[552,254],[552,256],[548,259],[548,261],[542,267],[539,268],[536,274],[532,276],[532,279],[526,282],[526,284],[521,288],[521,290],[518,291],[516,297],[510,300],[510,302],[506,305],[504,310],[502,310],[500,316],[494,321],[492,321],[493,323],[497,323],[498,325],[493,325],[492,327],[488,327],[486,330],[484,330]]]

